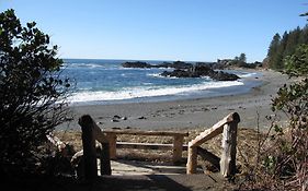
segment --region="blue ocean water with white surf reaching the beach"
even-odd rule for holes
[[[261,84],[258,72],[226,71],[239,75],[237,81],[217,82],[209,77],[163,77],[166,68],[128,69],[121,64],[135,60],[64,59],[62,75],[73,81],[68,102],[71,105],[104,105],[163,102],[236,95]],[[163,61],[147,60],[159,64]]]

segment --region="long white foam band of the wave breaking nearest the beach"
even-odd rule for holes
[[[118,92],[79,92],[75,93],[68,98],[70,103],[83,103],[83,102],[104,102],[104,100],[122,100],[140,97],[156,97],[156,96],[168,96],[176,94],[193,93],[196,91],[204,91],[210,88],[221,88],[229,86],[243,85],[240,81],[232,82],[206,82],[203,84],[196,84],[191,86],[151,86],[151,87],[133,87],[124,88]]]

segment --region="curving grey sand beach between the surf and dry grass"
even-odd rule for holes
[[[273,115],[271,99],[277,89],[288,82],[286,75],[274,71],[261,72],[260,86],[244,94],[179,99],[168,102],[126,103],[70,107],[73,120],[57,127],[57,130],[80,130],[78,118],[90,115],[102,129],[140,130],[190,130],[207,129],[230,112],[241,117],[240,128],[266,130],[271,122],[265,119]],[[259,114],[259,115],[258,115]],[[259,120],[258,120],[259,118]]]

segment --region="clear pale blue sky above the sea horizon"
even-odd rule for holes
[[[35,21],[61,58],[262,61],[275,33],[307,21],[308,0],[0,0]]]

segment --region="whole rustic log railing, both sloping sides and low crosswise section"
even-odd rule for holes
[[[223,120],[214,124],[210,129],[205,130],[183,146],[183,139],[189,133],[170,132],[170,131],[132,131],[132,130],[107,130],[102,131],[94,120],[89,116],[82,116],[79,124],[82,130],[84,178],[91,180],[98,176],[98,153],[95,150],[95,140],[102,144],[101,175],[111,175],[111,158],[116,158],[116,148],[142,148],[142,150],[171,150],[173,151],[173,162],[178,163],[182,158],[183,150],[187,148],[186,172],[195,174],[197,166],[197,155],[220,169],[224,177],[236,174],[236,153],[237,153],[237,129],[240,117],[237,112],[230,114]],[[199,147],[201,144],[223,133],[223,152],[221,159],[210,152]],[[130,135],[156,135],[156,136],[173,136],[173,144],[157,143],[126,143],[116,142],[118,134]]]

